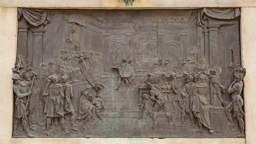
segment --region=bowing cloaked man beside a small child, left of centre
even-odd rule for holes
[[[99,88],[100,88],[99,85],[94,85],[92,87],[88,87],[80,91],[80,94],[82,96],[79,101],[78,120],[82,120],[85,118],[82,124],[83,129],[86,129],[85,127],[86,123],[92,118],[92,110],[96,109],[95,97],[96,97],[96,91]],[[95,112],[93,114],[95,114]]]

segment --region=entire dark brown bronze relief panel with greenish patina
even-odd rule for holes
[[[239,8],[18,12],[14,138],[244,138]]]

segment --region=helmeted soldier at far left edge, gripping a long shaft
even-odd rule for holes
[[[15,84],[13,85],[13,90],[17,96],[15,101],[15,106],[17,107],[16,112],[16,121],[14,122],[13,135],[18,136],[19,134],[16,132],[20,121],[22,121],[23,128],[28,137],[33,138],[34,136],[28,132],[27,127],[27,115],[28,115],[28,96],[32,94],[32,91],[27,92],[27,87],[21,85],[20,76],[18,73],[13,74],[13,78]]]

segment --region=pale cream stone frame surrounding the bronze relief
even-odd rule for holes
[[[65,3],[67,2],[67,3]],[[13,81],[11,68],[14,66],[16,60],[17,50],[17,7],[26,8],[49,8],[49,9],[196,9],[201,7],[241,7],[240,17],[240,41],[241,41],[241,58],[242,66],[247,68],[247,75],[244,78],[244,104],[245,104],[245,133],[246,138],[165,138],[165,139],[149,139],[149,138],[12,138],[13,129]],[[2,114],[0,137],[1,143],[254,143],[256,140],[254,133],[256,132],[255,116],[256,111],[254,106],[255,97],[253,97],[254,87],[252,84],[256,78],[253,77],[256,63],[256,36],[253,32],[256,30],[256,2],[248,0],[246,2],[233,2],[225,0],[219,2],[216,0],[189,2],[189,1],[156,1],[156,0],[140,0],[135,1],[133,6],[125,7],[122,0],[95,0],[82,1],[70,3],[68,0],[62,2],[50,2],[39,0],[31,1],[20,0],[3,0],[0,2],[0,51],[1,57],[1,78],[2,84],[0,92],[0,111]],[[254,24],[254,25],[253,25]]]

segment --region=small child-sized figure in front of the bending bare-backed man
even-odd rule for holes
[[[142,113],[142,120],[141,121],[144,121],[147,114],[149,113],[150,116],[152,117],[152,110],[153,110],[153,107],[154,107],[154,102],[151,100],[151,99],[154,99],[154,98],[149,98],[151,97],[150,95],[148,94],[144,94],[143,95],[143,102],[141,104],[141,109],[144,107],[144,111]]]

